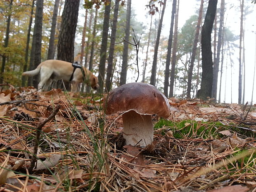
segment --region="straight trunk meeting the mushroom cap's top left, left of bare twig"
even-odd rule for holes
[[[131,2],[132,0],[127,0],[127,12],[126,12],[126,36],[125,42],[123,43],[123,62],[122,62],[122,69],[120,75],[120,85],[126,84],[126,76],[127,76],[127,66],[128,66],[128,48],[130,36],[130,10],[131,10]]]

